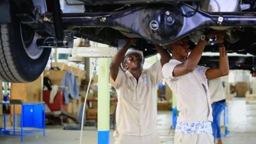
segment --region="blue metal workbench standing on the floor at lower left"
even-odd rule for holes
[[[3,127],[0,125],[0,135],[4,136],[20,136],[21,142],[26,135],[42,132],[45,136],[45,103],[20,103],[13,104],[10,102],[0,102],[0,105],[9,105],[13,107],[13,113],[2,114],[0,118],[3,118]],[[15,115],[15,106],[21,106],[20,118]],[[8,127],[6,119],[8,116],[13,117],[12,126]],[[19,117],[19,116],[18,116]],[[19,123],[20,124],[15,124]]]

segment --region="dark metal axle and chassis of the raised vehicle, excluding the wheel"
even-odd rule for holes
[[[31,1],[4,0],[0,2],[0,8],[4,13],[0,16],[0,23],[11,23],[10,6],[15,3],[19,12],[16,17],[20,23],[28,26],[31,31],[40,35],[36,39],[36,47],[47,49],[51,47],[72,48],[74,36],[88,38],[95,42],[118,47],[118,40],[138,38],[141,41],[136,45],[146,56],[156,53],[155,49],[144,49],[152,44],[166,45],[188,36],[200,29],[211,27],[228,28],[252,28],[256,27],[256,12],[205,12],[199,6],[191,6],[187,3],[175,3],[175,1],[104,1],[107,6],[111,4],[131,4],[129,8],[113,12],[83,12],[63,13],[59,0],[45,1],[34,0],[39,3],[32,6]],[[91,5],[97,5],[100,1],[86,1]],[[196,2],[196,1],[193,1]],[[200,2],[200,1],[197,1]],[[85,2],[84,2],[85,3]],[[141,4],[144,3],[144,4]],[[135,5],[134,5],[135,4]],[[111,28],[120,31],[111,37],[110,34],[98,35],[102,29]],[[91,29],[91,30],[90,30]],[[93,29],[93,31],[92,31]],[[243,39],[244,45],[237,51],[246,47],[246,52],[255,55],[255,33],[247,30],[250,38]],[[242,40],[242,41],[243,41]],[[148,46],[150,45],[150,46]],[[227,43],[227,49],[237,45]],[[211,48],[211,45],[208,47]],[[212,50],[209,50],[212,51]],[[215,51],[215,50],[213,50]]]

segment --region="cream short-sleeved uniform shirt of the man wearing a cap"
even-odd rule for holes
[[[157,61],[142,71],[138,83],[128,70],[124,72],[121,68],[115,81],[110,77],[110,83],[118,95],[118,133],[145,136],[156,131],[156,88],[163,79],[161,69],[161,63]]]

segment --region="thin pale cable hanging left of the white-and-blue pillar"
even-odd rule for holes
[[[87,100],[87,96],[88,96],[88,92],[90,90],[90,85],[91,85],[91,82],[92,82],[92,78],[93,76],[95,76],[96,74],[96,62],[93,63],[94,65],[94,68],[93,68],[93,74],[92,76],[90,77],[90,81],[88,83],[88,87],[87,87],[87,90],[86,90],[86,93],[85,93],[85,98],[84,98],[84,106],[83,106],[83,115],[82,115],[82,123],[81,123],[81,132],[80,132],[80,144],[82,144],[82,139],[83,139],[83,127],[84,127],[84,112],[85,112],[85,106],[86,106],[86,100]]]

